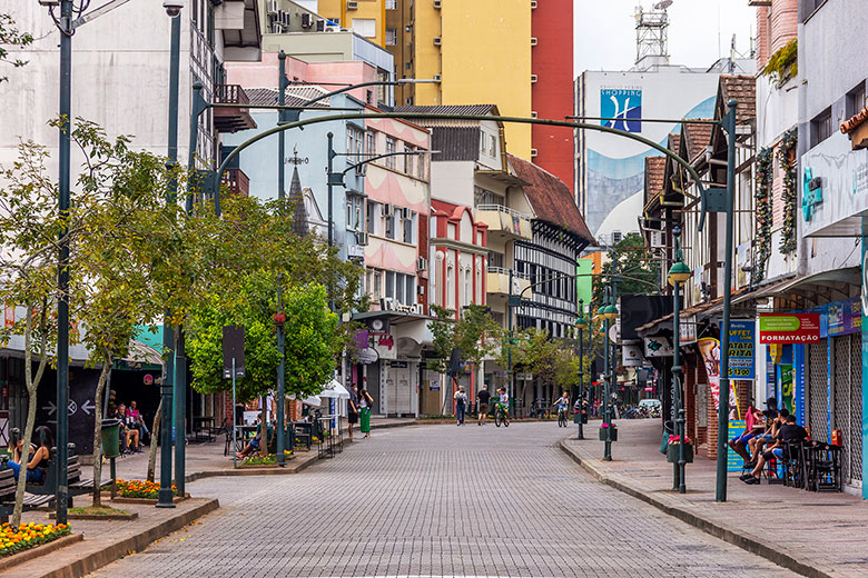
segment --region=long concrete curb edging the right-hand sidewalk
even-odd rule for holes
[[[678,518],[716,538],[720,538],[743,550],[761,556],[762,558],[801,576],[808,576],[810,578],[835,578],[836,576],[840,576],[840,574],[836,572],[832,568],[817,565],[809,560],[800,560],[783,546],[759,538],[726,524],[714,521],[681,498],[668,496],[665,494],[655,494],[627,476],[614,474],[605,465],[599,464],[599,460],[590,457],[584,451],[569,447],[566,445],[566,439],[561,440],[559,445],[562,451],[598,481],[622,491],[628,496],[642,500],[662,512]]]

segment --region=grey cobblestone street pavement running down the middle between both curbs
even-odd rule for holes
[[[791,576],[593,481],[566,432],[401,428],[298,476],[199,480],[223,510],[95,576]]]

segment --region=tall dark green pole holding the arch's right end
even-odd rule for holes
[[[736,209],[736,108],[737,100],[728,103],[723,130],[729,139],[727,155],[727,229],[723,250],[723,322],[720,327],[720,411],[718,413],[718,462],[716,501],[727,501],[727,440],[729,439],[729,318],[732,300],[732,228]]]

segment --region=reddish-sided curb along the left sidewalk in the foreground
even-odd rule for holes
[[[200,518],[219,507],[220,502],[217,499],[208,499],[180,516],[171,517],[155,526],[145,528],[138,534],[119,540],[107,548],[90,552],[83,558],[69,562],[61,568],[56,568],[50,572],[39,575],[39,578],[76,578],[78,576],[85,576],[115,560],[124,558],[131,551],[144,550],[155,540],[187,526],[193,520]]]

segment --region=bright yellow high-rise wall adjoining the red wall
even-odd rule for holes
[[[531,117],[531,0],[416,0],[414,104],[496,104]],[[397,62],[396,62],[397,64]],[[403,74],[398,73],[398,77]],[[407,74],[410,76],[410,74]],[[531,158],[531,127],[507,124],[510,152]]]

